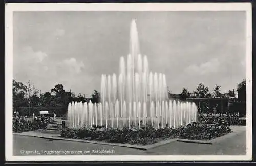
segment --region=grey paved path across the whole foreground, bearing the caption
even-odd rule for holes
[[[96,150],[103,149],[112,152],[109,155],[245,155],[246,131],[243,127],[240,127],[238,130],[239,132],[237,134],[233,134],[233,136],[228,136],[224,139],[219,139],[217,143],[212,145],[182,143],[176,141],[147,151],[126,147],[79,143],[66,140],[49,140],[13,134],[13,155],[25,155],[25,152],[29,151],[38,151],[38,153],[41,153],[41,155],[50,155],[44,154],[44,152],[47,153],[51,150],[81,151],[84,154],[89,154],[89,152],[90,154],[93,154],[93,152],[97,152]],[[95,155],[95,153],[93,155]]]

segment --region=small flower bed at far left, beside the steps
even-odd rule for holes
[[[30,120],[25,117],[15,117],[12,119],[12,131],[13,132],[24,132],[33,131],[38,129],[46,129],[46,125],[50,123],[56,123],[56,121],[50,118],[42,120],[41,118],[33,118]]]

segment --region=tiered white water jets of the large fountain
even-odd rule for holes
[[[147,56],[140,54],[135,20],[130,31],[130,54],[125,67],[120,58],[119,75],[101,75],[101,101],[72,102],[68,106],[69,126],[106,128],[179,127],[195,122],[197,106],[168,98],[166,76],[149,70]]]

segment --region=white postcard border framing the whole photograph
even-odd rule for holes
[[[13,156],[12,78],[14,11],[246,11],[246,155],[83,155]],[[251,3],[24,3],[6,4],[5,15],[5,154],[6,161],[240,161],[252,159],[252,18]]]

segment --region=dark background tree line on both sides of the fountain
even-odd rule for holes
[[[235,97],[235,90],[229,90],[226,93],[220,92],[221,86],[216,85],[211,93],[209,87],[200,83],[196,90],[189,92],[188,89],[183,88],[179,94],[180,100],[186,100],[187,98],[207,98],[207,97]],[[246,97],[246,80],[242,80],[237,86],[238,93],[243,94],[242,97]],[[170,93],[170,92],[169,92]],[[63,110],[67,110],[68,104],[72,101],[76,102],[88,102],[91,100],[93,103],[100,102],[100,93],[94,90],[94,93],[90,98],[86,98],[79,93],[75,95],[71,90],[65,91],[62,84],[55,85],[50,91],[40,93],[36,89],[31,81],[26,83],[17,82],[13,79],[13,111],[19,111],[20,107],[58,107]]]

